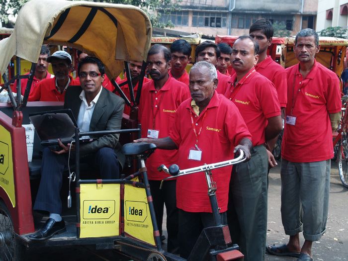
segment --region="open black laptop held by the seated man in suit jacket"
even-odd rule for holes
[[[67,145],[75,141],[75,128],[78,127],[71,109],[43,111],[29,114],[41,145],[51,150],[61,150],[58,139]],[[80,137],[80,143],[91,142],[96,138]]]

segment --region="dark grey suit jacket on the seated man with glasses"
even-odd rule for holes
[[[82,100],[80,86],[70,86],[67,88],[65,95],[64,108],[71,109],[75,119],[78,119]],[[124,100],[108,91],[105,88],[101,89],[101,93],[89,124],[89,131],[103,130],[119,130],[121,129],[122,114],[124,108]],[[84,156],[90,153],[95,153],[104,147],[113,148],[117,154],[118,160],[123,167],[125,157],[121,153],[121,144],[118,142],[119,134],[110,134],[98,138],[95,141],[81,144],[80,155]]]

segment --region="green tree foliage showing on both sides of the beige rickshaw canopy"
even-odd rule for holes
[[[13,13],[17,14],[20,7],[28,0],[0,0],[0,21],[3,23],[8,22],[8,15]],[[178,9],[178,1],[176,3],[171,0],[89,0],[94,2],[109,2],[109,3],[123,3],[132,4],[140,7],[149,16],[152,26],[154,27],[174,27],[171,21],[166,23],[160,22],[161,14],[155,14],[156,9],[166,10],[170,12],[174,9]]]

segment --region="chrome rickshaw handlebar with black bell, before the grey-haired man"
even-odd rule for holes
[[[163,180],[175,178],[177,176],[183,176],[183,175],[188,175],[188,174],[193,174],[197,172],[205,172],[205,171],[211,171],[214,169],[219,169],[223,167],[227,167],[230,165],[235,165],[237,163],[244,162],[247,158],[244,155],[244,152],[242,150],[239,150],[239,156],[235,159],[228,160],[228,161],[223,161],[223,162],[217,162],[217,163],[212,163],[212,164],[206,164],[186,170],[181,170],[179,169],[179,166],[176,164],[173,164],[172,166],[169,167],[169,169],[165,165],[161,165],[158,170],[159,171],[164,171],[165,173],[168,173],[172,176],[166,177]]]

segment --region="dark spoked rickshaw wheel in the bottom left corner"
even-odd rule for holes
[[[10,213],[0,200],[0,260],[20,261],[24,252],[24,246],[16,239]]]

